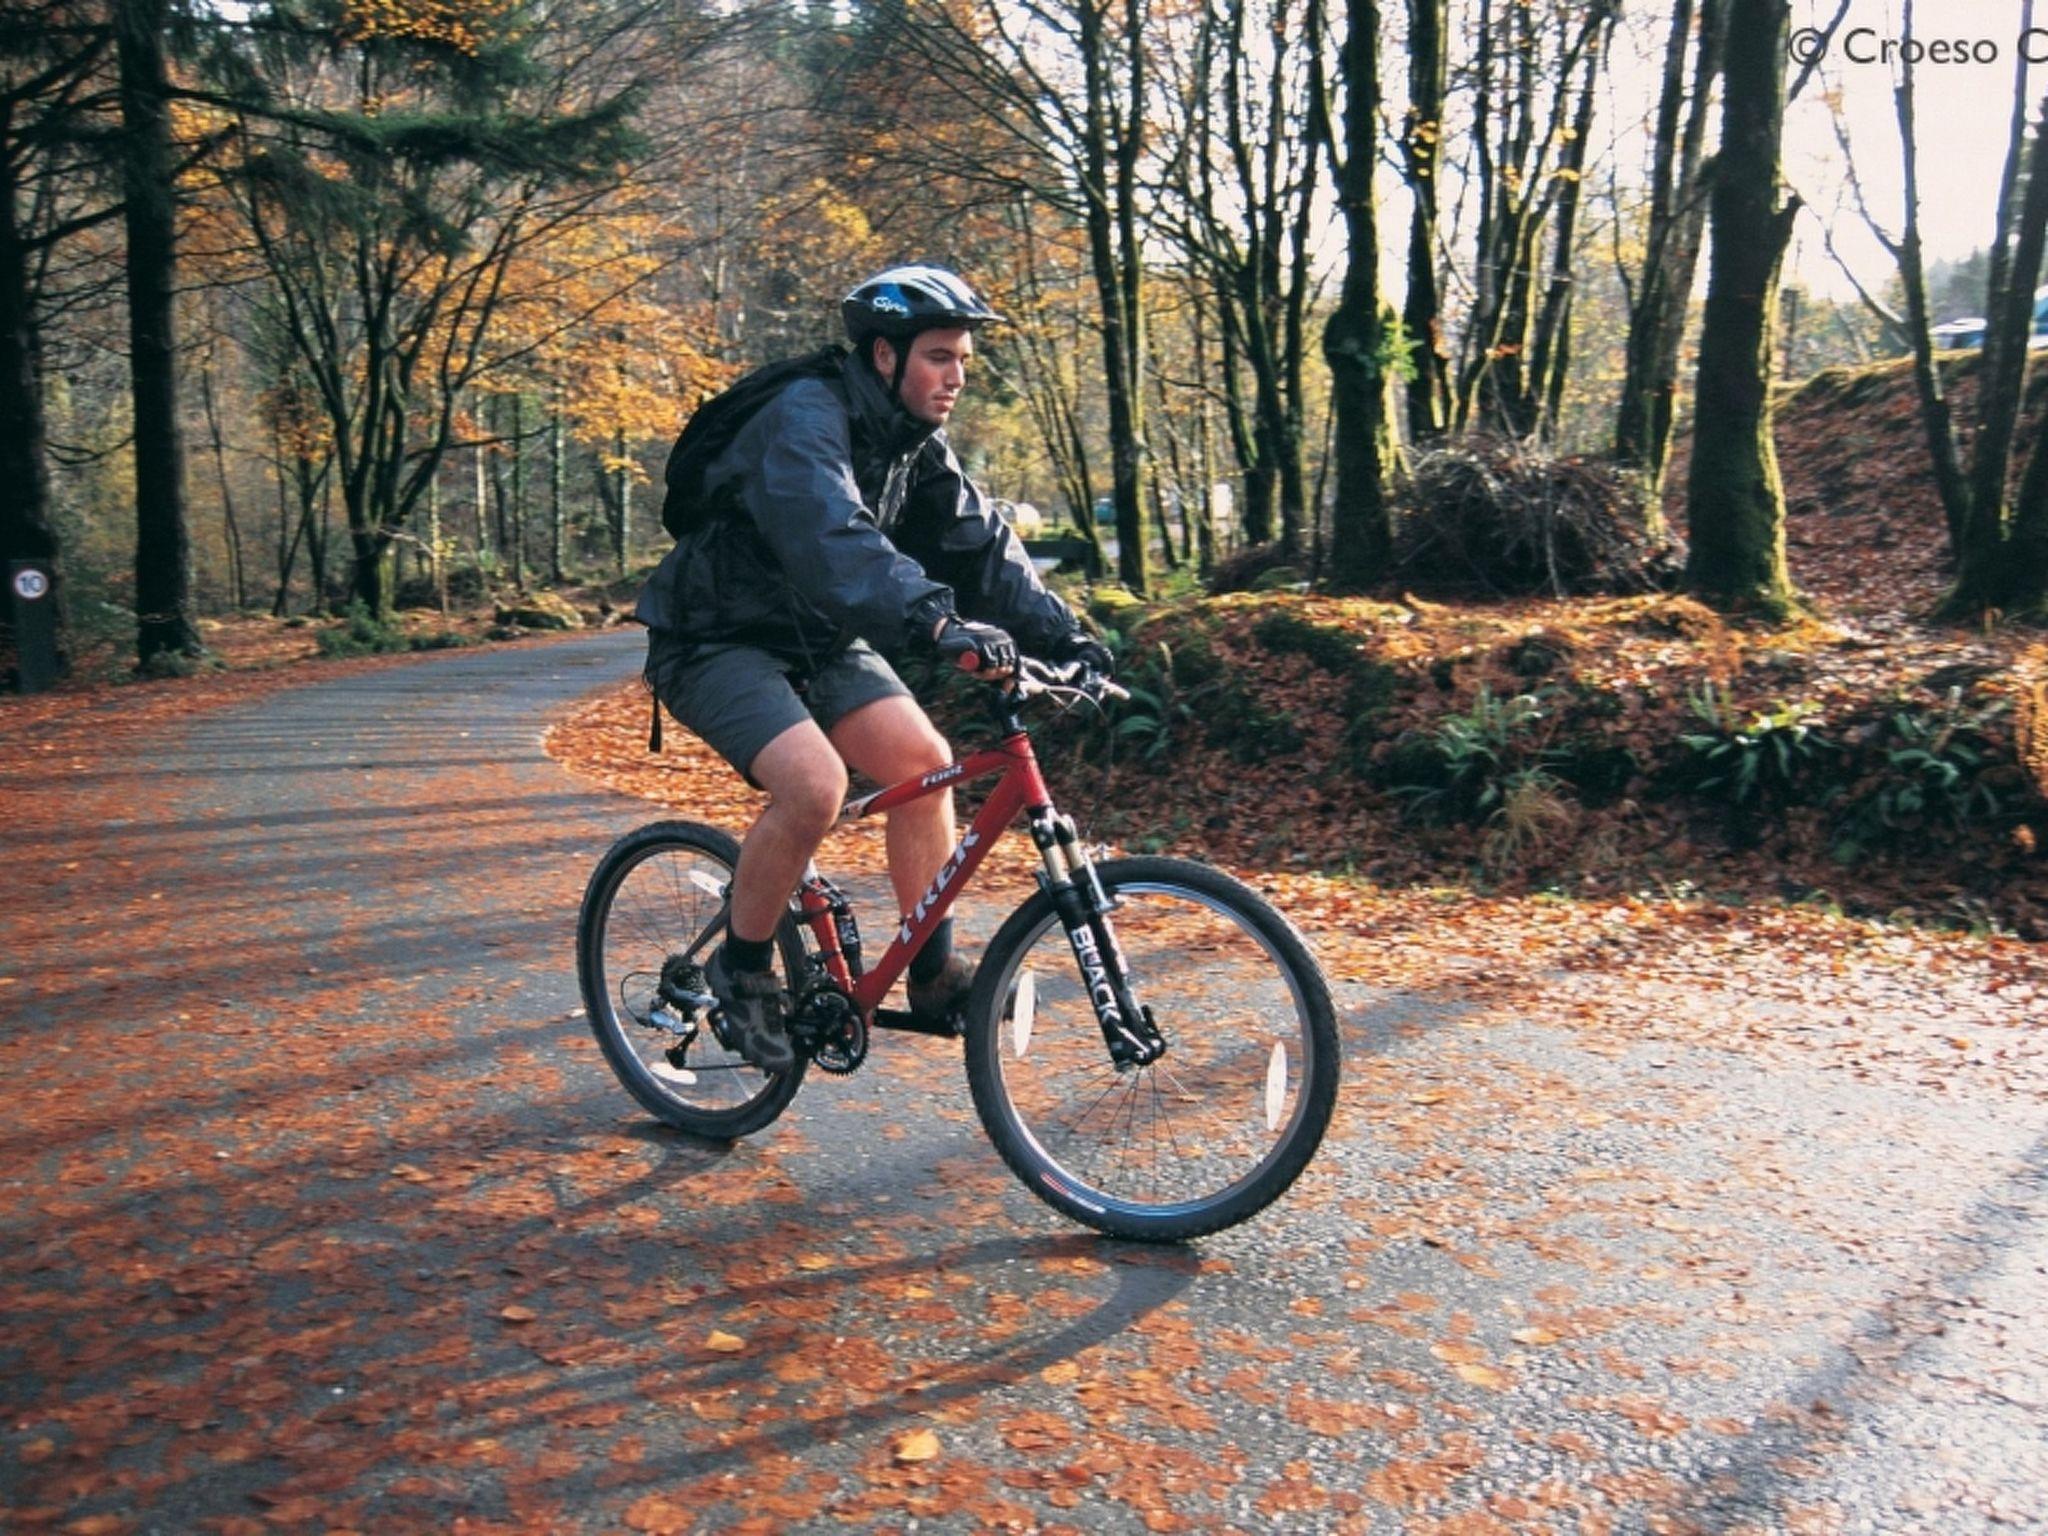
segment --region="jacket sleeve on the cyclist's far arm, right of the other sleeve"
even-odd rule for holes
[[[1001,625],[1026,651],[1044,653],[1079,625],[1024,553],[1024,541],[961,469],[944,436],[918,455],[903,506],[905,545],[958,594],[961,612]]]

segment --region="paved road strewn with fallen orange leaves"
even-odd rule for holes
[[[1188,1249],[1030,1200],[936,1040],[696,1145],[575,1016],[645,807],[539,748],[635,659],[18,743],[0,1530],[2048,1528],[2017,1012],[1343,981],[1325,1155]]]

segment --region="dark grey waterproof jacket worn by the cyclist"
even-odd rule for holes
[[[758,645],[815,666],[852,637],[901,651],[958,610],[1026,653],[1075,631],[938,428],[858,356],[797,379],[705,471],[705,516],[635,606],[655,645]]]

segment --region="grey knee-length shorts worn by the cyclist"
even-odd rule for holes
[[[909,688],[866,641],[854,641],[815,672],[778,662],[752,645],[647,647],[655,698],[752,784],[748,768],[791,725],[829,731],[877,698],[909,698]]]

